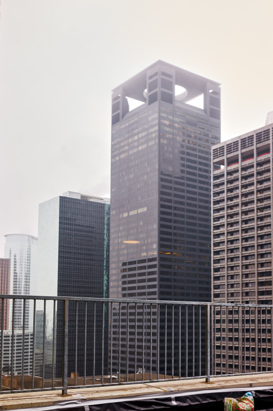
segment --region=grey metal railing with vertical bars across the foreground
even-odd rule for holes
[[[0,299],[0,393],[273,371],[273,306]]]

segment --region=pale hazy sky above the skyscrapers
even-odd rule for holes
[[[272,0],[2,0],[0,257],[38,203],[109,196],[111,89],[159,59],[222,84],[222,140],[273,110]]]

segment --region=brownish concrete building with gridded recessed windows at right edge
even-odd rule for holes
[[[212,147],[213,302],[272,304],[272,129],[273,124],[267,124]],[[232,367],[229,372],[231,369],[239,371],[239,359],[244,371],[249,372],[251,365],[258,361],[253,352],[258,313],[255,309],[247,312],[237,309],[228,314],[228,320],[229,317],[232,320],[232,315],[239,329],[243,319],[248,328],[244,342],[239,333],[235,339],[229,335],[229,352],[235,346],[233,356],[237,360],[235,369]],[[267,312],[261,310],[259,315],[267,324]],[[219,315],[217,321],[219,326],[222,321],[225,334],[226,325]],[[259,359],[261,371],[266,369],[265,364],[271,358],[271,352],[266,352],[271,332],[271,325],[267,326],[269,339],[263,340],[264,358]],[[219,339],[220,334],[217,341]],[[242,352],[240,354],[242,345],[246,346],[244,359]],[[227,349],[226,341],[216,344],[216,349],[219,354],[216,367],[220,369],[227,365],[225,359],[222,365],[220,361],[220,353]]]

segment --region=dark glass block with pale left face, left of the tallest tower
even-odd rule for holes
[[[45,201],[39,206],[38,222],[38,294],[73,297],[108,297],[109,277],[109,218],[110,200],[101,197],[67,192],[63,196]],[[87,368],[92,372],[93,353],[92,322],[88,314]],[[50,314],[52,307],[47,309]],[[43,315],[39,319],[42,321]],[[75,342],[77,339],[77,372],[84,372],[84,303],[69,305],[69,372],[75,371]],[[96,311],[96,353],[101,356],[102,310]],[[62,307],[57,308],[56,372],[62,363]],[[105,321],[107,321],[105,316]],[[37,324],[41,327],[41,324]],[[52,315],[47,315],[48,346],[52,334]],[[107,327],[106,327],[107,329]],[[107,333],[104,334],[107,337]],[[38,336],[37,336],[38,338]],[[106,346],[106,344],[105,344]],[[49,356],[50,357],[50,356]],[[107,359],[107,355],[105,355]],[[52,356],[51,356],[52,359]],[[100,362],[101,365],[101,362]]]

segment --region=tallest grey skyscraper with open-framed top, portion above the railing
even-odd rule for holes
[[[110,297],[210,301],[218,142],[219,83],[158,61],[113,90]]]

